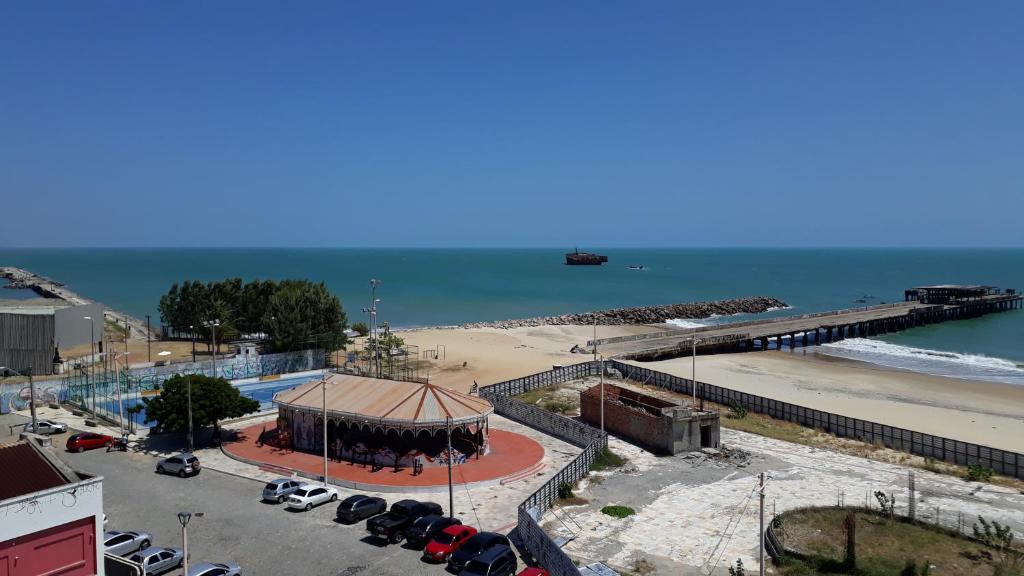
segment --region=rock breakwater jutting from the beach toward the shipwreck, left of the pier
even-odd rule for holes
[[[463,328],[522,328],[534,326],[623,326],[629,324],[660,324],[676,318],[701,319],[712,316],[732,316],[734,314],[760,314],[775,308],[787,307],[777,298],[752,296],[710,302],[684,302],[654,306],[612,308],[581,314],[542,316],[521,320],[500,320],[497,322],[476,322],[465,324]]]

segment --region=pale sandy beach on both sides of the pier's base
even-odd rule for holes
[[[602,327],[600,336],[650,330],[654,328]],[[430,363],[430,379],[466,390],[474,380],[484,385],[582,362],[590,357],[568,351],[592,333],[583,326],[544,326],[402,335],[421,351],[444,345],[444,361]],[[689,358],[642,365],[690,376]],[[809,408],[1024,452],[1024,386],[906,372],[826,357],[814,348],[698,357],[697,377]]]

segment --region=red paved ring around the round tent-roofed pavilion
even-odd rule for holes
[[[256,423],[237,430],[237,440],[225,442],[224,451],[228,456],[267,465],[261,467],[301,470],[315,476],[324,474],[322,455],[282,450],[267,445],[259,446],[256,440],[265,426],[265,422]],[[456,484],[501,482],[503,479],[528,474],[544,459],[544,447],[523,435],[492,428],[488,440],[490,451],[487,454],[479,459],[470,458],[466,463],[455,467]],[[447,487],[446,466],[426,466],[423,474],[413,476],[413,469],[408,466],[398,471],[394,471],[391,466],[374,471],[371,466],[348,461],[330,461],[328,476],[333,484],[373,490],[391,491],[390,489],[395,487],[411,490]]]

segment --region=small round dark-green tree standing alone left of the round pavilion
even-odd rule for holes
[[[242,396],[223,378],[176,374],[164,382],[160,396],[142,400],[145,421],[156,422],[161,431],[188,431],[189,382],[194,430],[259,410],[259,402]]]

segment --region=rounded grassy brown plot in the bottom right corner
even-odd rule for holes
[[[783,515],[780,536],[784,545],[803,558],[783,559],[779,572],[785,576],[888,576],[902,574],[913,563],[918,569],[915,576],[926,565],[936,567],[932,574],[989,576],[999,560],[994,548],[954,531],[857,510],[857,563],[851,569],[843,562],[846,545],[843,521],[849,511],[849,508],[806,508]]]

